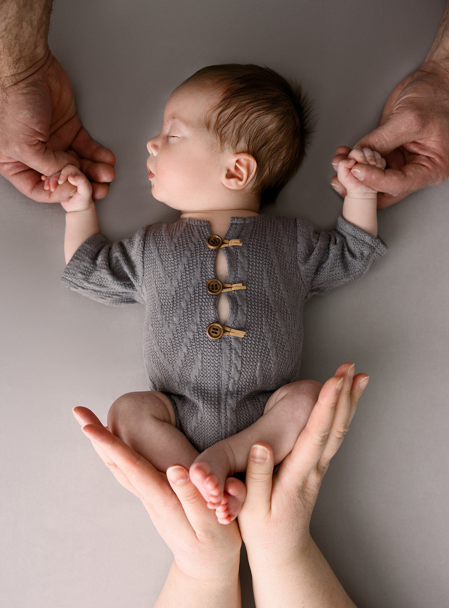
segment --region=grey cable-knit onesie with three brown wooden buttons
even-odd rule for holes
[[[196,218],[112,244],[96,234],[61,279],[97,302],[146,305],[149,388],[171,399],[177,428],[199,452],[253,424],[276,389],[298,380],[304,302],[362,277],[387,249],[342,215],[320,233],[303,219],[233,216],[224,240],[210,235],[209,221]],[[226,285],[245,286],[226,292],[224,326],[221,283],[210,282],[217,249],[207,243],[224,246]]]

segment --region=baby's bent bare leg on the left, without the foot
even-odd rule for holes
[[[115,399],[108,412],[108,428],[162,473],[174,464],[188,469],[199,454],[176,428],[170,399],[157,390]]]

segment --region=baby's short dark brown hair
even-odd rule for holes
[[[315,132],[309,94],[296,80],[253,63],[202,67],[177,88],[187,83],[223,88],[219,102],[202,114],[202,126],[217,136],[221,152],[229,145],[256,159],[251,192],[260,197],[261,208],[275,204]]]

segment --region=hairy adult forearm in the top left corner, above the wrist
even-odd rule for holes
[[[53,0],[0,0],[0,76],[29,70],[47,55]]]

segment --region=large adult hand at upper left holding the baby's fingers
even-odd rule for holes
[[[41,174],[72,164],[92,182],[94,201],[104,198],[109,185],[102,182],[115,178],[114,154],[84,129],[69,77],[48,46],[36,66],[22,79],[0,74],[0,173],[33,201],[59,203],[71,185],[44,190]]]

